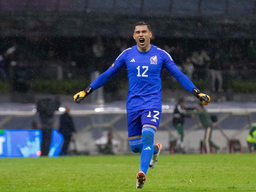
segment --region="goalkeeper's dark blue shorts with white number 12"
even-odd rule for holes
[[[127,113],[128,137],[141,135],[142,126],[145,124],[158,128],[161,112],[158,109],[143,109]]]

